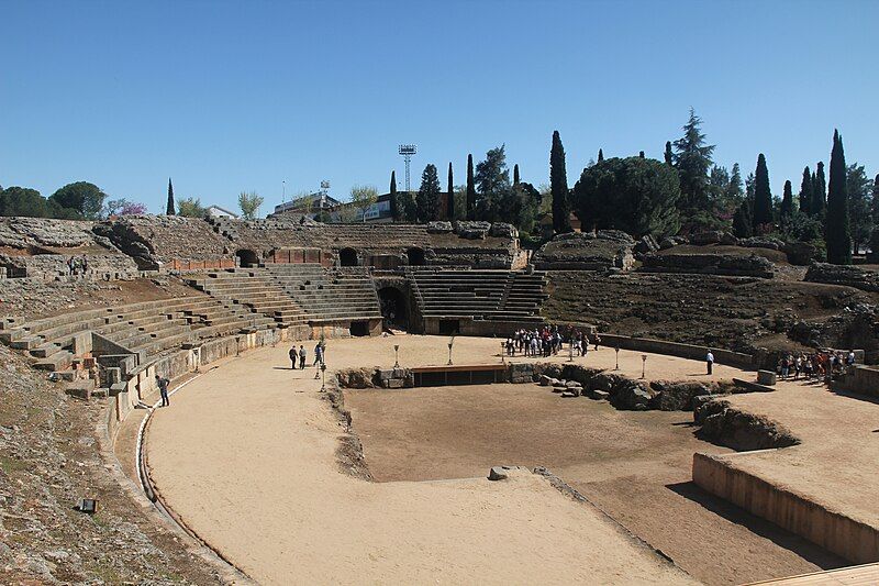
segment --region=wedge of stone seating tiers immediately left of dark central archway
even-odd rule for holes
[[[366,267],[324,268],[307,263],[266,265],[266,270],[311,322],[381,319]]]

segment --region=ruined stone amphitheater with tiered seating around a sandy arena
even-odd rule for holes
[[[809,256],[2,219],[0,582],[871,583],[879,277]],[[600,345],[505,355],[547,323]],[[776,379],[816,349],[863,364]]]

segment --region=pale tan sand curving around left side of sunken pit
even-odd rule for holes
[[[408,364],[445,362],[446,340],[426,336],[331,341],[327,360],[388,364],[396,341]],[[494,340],[467,342],[469,356],[497,352]],[[691,582],[530,473],[500,483],[345,475],[335,456],[343,430],[315,371],[289,371],[287,350],[253,351],[204,374],[156,413],[147,438],[166,502],[259,582]]]

